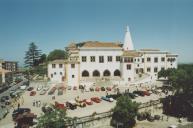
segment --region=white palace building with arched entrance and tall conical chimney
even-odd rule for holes
[[[129,85],[139,79],[157,79],[161,69],[177,68],[176,54],[158,49],[135,50],[127,27],[124,43],[87,41],[71,43],[68,60],[48,64],[51,82],[66,86]]]

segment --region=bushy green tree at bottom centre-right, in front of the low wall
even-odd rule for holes
[[[119,128],[132,128],[135,124],[135,117],[137,116],[138,106],[136,102],[132,102],[128,96],[121,96],[117,99],[111,124]]]

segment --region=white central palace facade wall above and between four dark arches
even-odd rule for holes
[[[103,76],[103,72],[107,69],[111,72],[111,76],[114,76],[114,71],[116,69],[120,70],[120,61],[116,61],[116,56],[121,56],[122,50],[108,50],[108,49],[81,49],[79,51],[80,57],[80,75],[82,71],[87,70],[89,72],[89,77],[92,77],[94,70],[100,72],[100,76]],[[82,56],[87,56],[87,62],[82,62]],[[90,56],[95,56],[95,62],[90,62]],[[104,56],[104,63],[99,63],[99,56]],[[112,56],[112,62],[107,61],[107,57]]]

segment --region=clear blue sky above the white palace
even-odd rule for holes
[[[0,0],[0,58],[23,64],[30,42],[44,53],[69,42],[121,41],[193,62],[193,0]]]

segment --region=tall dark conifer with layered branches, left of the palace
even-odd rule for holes
[[[25,53],[25,65],[26,67],[33,68],[37,66],[39,63],[39,59],[41,56],[41,50],[38,50],[38,47],[34,42],[29,44],[29,49]]]

